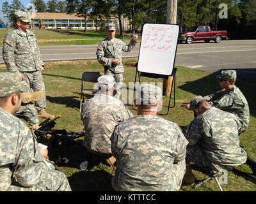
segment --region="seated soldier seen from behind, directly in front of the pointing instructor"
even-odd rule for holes
[[[110,137],[118,122],[123,122],[133,114],[116,98],[113,98],[115,78],[104,75],[98,78],[99,92],[82,106],[81,119],[86,136],[84,147],[93,154],[106,156],[107,163],[115,163],[112,156]]]

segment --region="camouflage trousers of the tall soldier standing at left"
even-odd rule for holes
[[[35,101],[35,108],[36,110],[42,110],[46,108],[46,95],[45,95],[45,85],[44,85],[44,78],[42,74],[40,74],[40,70],[37,71],[22,71],[20,72],[23,77],[23,84],[29,88],[31,92],[36,91],[44,91],[44,97]]]

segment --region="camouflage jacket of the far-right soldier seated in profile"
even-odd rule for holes
[[[245,131],[250,121],[250,111],[246,98],[243,93],[234,85],[230,91],[225,89],[214,92],[204,98],[213,103],[213,106],[221,110],[234,113],[239,117],[242,124],[241,132]]]

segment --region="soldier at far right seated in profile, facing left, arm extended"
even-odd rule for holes
[[[246,98],[235,85],[236,71],[221,71],[221,74],[216,77],[219,80],[222,90],[214,92],[208,96],[204,96],[204,99],[209,101],[212,106],[220,108],[220,110],[237,115],[242,124],[240,131],[240,133],[242,133],[248,127],[250,111]],[[181,106],[189,110],[189,103],[183,103]]]

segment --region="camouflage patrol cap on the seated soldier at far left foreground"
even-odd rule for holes
[[[0,73],[0,97],[10,96],[18,91],[26,92],[26,87],[22,84],[21,78],[17,73]]]

